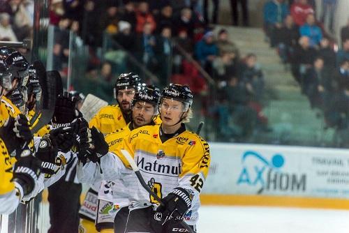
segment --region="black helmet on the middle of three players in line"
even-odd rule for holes
[[[132,100],[132,106],[136,102],[142,101],[150,103],[155,108],[158,106],[158,99],[160,98],[160,90],[154,85],[142,85],[142,89],[135,93],[135,96]]]

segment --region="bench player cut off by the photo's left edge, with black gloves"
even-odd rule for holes
[[[27,144],[32,140],[26,118],[15,116],[19,110],[3,93],[13,89],[13,74],[0,60],[0,213],[12,213],[24,195],[38,186],[40,161],[32,155]]]

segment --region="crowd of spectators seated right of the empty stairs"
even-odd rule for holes
[[[324,13],[317,20],[315,8],[307,0],[290,6],[283,0],[268,1],[264,7],[265,31],[285,67],[290,65],[311,107],[324,116],[326,128],[345,131],[349,128],[349,19],[341,29],[338,48],[321,21],[329,13],[332,31],[334,12],[329,12],[327,5],[335,1],[325,2]]]

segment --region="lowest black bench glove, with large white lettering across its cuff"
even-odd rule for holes
[[[40,165],[41,161],[34,157],[29,149],[22,151],[15,163],[12,181],[22,187],[24,195],[34,190],[40,174]]]

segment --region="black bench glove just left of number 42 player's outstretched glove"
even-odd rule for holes
[[[49,137],[52,146],[63,153],[68,153],[73,145],[77,143],[76,135],[74,135],[73,128],[70,126],[61,126],[51,130]]]

